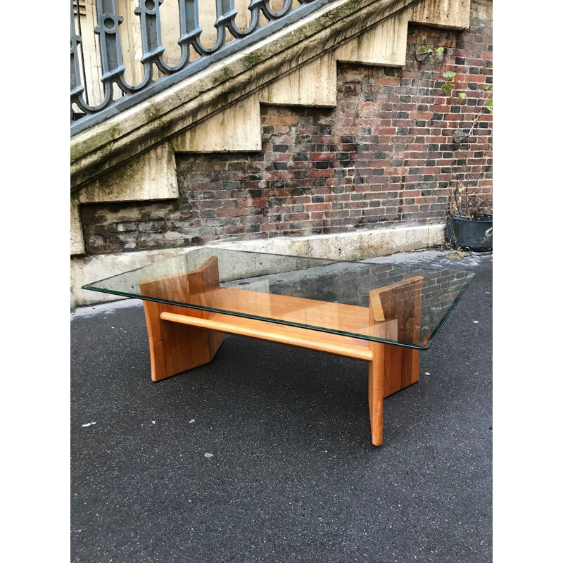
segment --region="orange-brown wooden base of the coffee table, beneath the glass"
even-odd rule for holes
[[[229,303],[243,293],[246,293],[246,298],[248,293],[253,293],[253,301],[260,301],[260,295],[267,295],[220,288],[215,257],[205,262],[198,270],[144,281],[141,283],[141,290],[149,297],[166,296],[169,301],[189,302],[194,305],[205,305],[205,301],[211,298],[216,301],[225,295],[229,298]],[[317,307],[336,305],[340,308],[340,322],[346,314],[350,314],[352,319],[358,316],[358,311],[364,310],[352,305],[327,304],[287,296],[269,297],[274,298],[276,306],[283,305],[291,312],[310,310],[312,303],[319,304]],[[201,298],[201,303],[197,303],[197,298]],[[422,277],[412,277],[398,284],[374,289],[369,293],[369,310],[365,308],[369,317],[370,334],[389,341],[417,342],[421,301]],[[374,445],[383,443],[384,397],[410,386],[419,379],[419,352],[405,346],[156,301],[143,303],[151,348],[153,381],[210,362],[223,341],[224,333],[285,343],[368,362],[369,419]],[[270,316],[271,309],[270,304]],[[262,315],[265,316],[267,315]]]

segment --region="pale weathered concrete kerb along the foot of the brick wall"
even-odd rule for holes
[[[444,241],[445,225],[417,225],[396,229],[375,229],[328,235],[281,237],[253,241],[217,243],[213,246],[243,251],[266,252],[315,258],[356,260],[388,255],[393,252],[428,248]],[[170,248],[167,250],[99,254],[74,258],[70,261],[70,305],[88,305],[115,301],[117,296],[85,291],[81,286],[98,279],[121,274],[128,270],[165,260],[179,253],[198,248]]]

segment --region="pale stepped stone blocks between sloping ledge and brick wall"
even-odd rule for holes
[[[141,153],[117,170],[106,172],[71,196],[71,255],[84,253],[81,203],[177,198],[175,153],[259,152],[262,150],[260,104],[336,107],[337,62],[400,68],[405,65],[409,23],[466,29],[470,6],[470,0],[422,0],[410,4],[346,39],[335,49],[266,84],[258,92],[185,129],[170,141]]]

